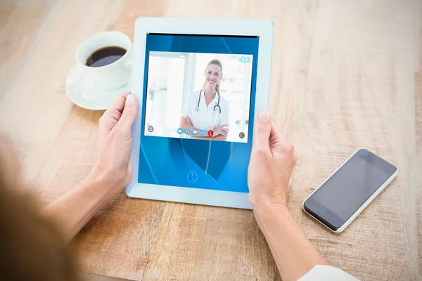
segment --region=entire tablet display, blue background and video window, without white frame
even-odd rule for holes
[[[146,35],[139,183],[248,192],[258,43]]]

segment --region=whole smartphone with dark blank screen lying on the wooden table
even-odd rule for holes
[[[357,150],[303,202],[307,214],[341,233],[396,176],[381,157]]]

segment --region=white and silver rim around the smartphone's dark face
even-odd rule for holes
[[[328,181],[329,178],[331,178],[344,164],[346,164],[347,161],[349,161],[350,158],[353,157],[353,155],[355,155],[359,150],[362,150],[362,149],[364,149],[364,148],[359,148],[352,155],[350,155],[350,157],[347,158],[347,160],[345,162],[343,162],[343,164],[341,164],[333,172],[333,174],[331,174],[330,176],[328,176],[328,178],[326,178],[326,180],[323,183],[321,183],[321,185],[319,185],[318,188],[316,188],[311,194],[309,194],[308,197],[306,197],[305,200],[303,200],[302,209],[303,209],[303,211],[305,211],[306,214],[308,214],[309,216],[312,216],[312,214],[309,214],[309,212],[307,212],[306,209],[305,209],[305,202],[306,202],[306,200],[308,200],[308,198],[311,197],[314,194],[314,192],[316,192],[316,190],[319,190],[319,188],[321,188],[321,186],[324,185],[324,183],[326,183],[326,181]],[[376,192],[373,192],[373,195],[371,197],[369,197],[369,199],[366,200],[366,202],[364,204],[362,204],[362,206],[359,209],[357,209],[357,211],[354,212],[354,214],[343,224],[343,226],[341,226],[340,228],[338,228],[338,230],[332,230],[331,228],[328,228],[328,226],[326,226],[323,222],[319,221],[319,219],[316,218],[316,217],[314,217],[314,216],[312,216],[312,218],[314,218],[316,221],[318,221],[319,223],[321,223],[323,226],[325,226],[326,228],[328,228],[329,230],[331,230],[333,233],[341,233],[341,232],[343,232],[343,230],[345,230],[347,228],[347,226],[349,226],[350,223],[352,223],[352,221],[354,221],[354,219],[357,218],[357,216],[359,216],[360,213],[362,213],[362,211],[369,205],[369,203],[371,203],[381,193],[381,191],[383,191],[385,189],[385,187],[387,185],[389,185],[392,182],[392,180],[395,179],[395,177],[397,176],[398,173],[399,173],[399,169],[397,169],[397,167],[396,167],[396,171],[394,172],[394,174],[392,174],[390,176],[390,178],[388,178],[387,181],[385,181],[385,183],[383,183],[383,185],[381,185],[380,188],[378,188],[378,190],[376,190]]]

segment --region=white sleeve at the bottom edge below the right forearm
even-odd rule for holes
[[[305,275],[300,277],[298,281],[331,281],[331,280],[342,280],[342,281],[356,281],[359,280],[349,273],[340,268],[334,266],[315,266],[309,270]]]

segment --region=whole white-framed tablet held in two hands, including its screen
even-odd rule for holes
[[[251,209],[253,124],[268,108],[269,20],[138,18],[129,197]]]

